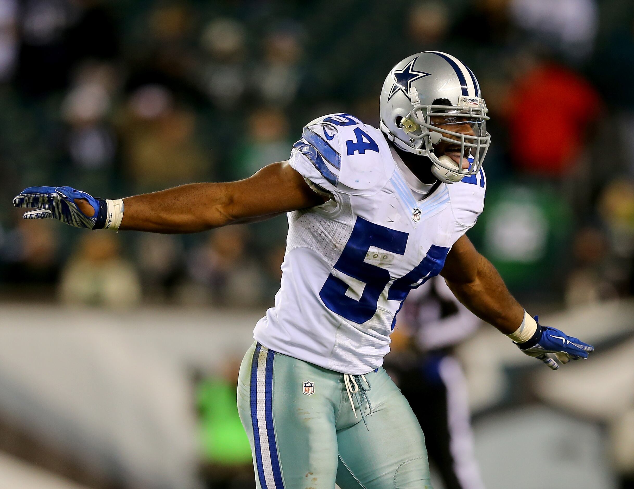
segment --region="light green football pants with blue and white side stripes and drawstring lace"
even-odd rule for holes
[[[365,378],[348,377],[353,411],[343,374],[253,344],[238,412],[259,489],[432,489],[410,405],[383,368]]]

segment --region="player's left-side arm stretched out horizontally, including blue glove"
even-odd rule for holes
[[[13,204],[35,209],[27,212],[25,219],[56,218],[90,229],[110,228],[114,221],[112,227],[122,230],[195,233],[271,218],[325,200],[288,162],[280,162],[244,180],[190,183],[126,197],[122,202],[94,199],[70,187],[30,187],[15,197]]]

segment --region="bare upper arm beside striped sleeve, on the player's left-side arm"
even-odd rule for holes
[[[328,200],[314,192],[287,161],[270,164],[247,179],[224,185],[223,212],[238,223],[314,207]]]

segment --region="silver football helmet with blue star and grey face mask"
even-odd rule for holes
[[[446,53],[424,51],[399,62],[385,78],[380,127],[401,150],[429,157],[436,178],[454,183],[482,166],[491,142],[487,112],[467,65]],[[441,143],[453,158],[434,153]]]

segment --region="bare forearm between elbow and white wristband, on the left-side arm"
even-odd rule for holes
[[[119,229],[153,233],[197,233],[231,224],[226,183],[190,183],[127,197]]]

